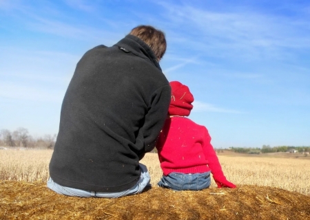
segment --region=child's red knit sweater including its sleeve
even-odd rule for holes
[[[189,118],[167,118],[156,148],[164,175],[211,171],[218,188],[236,188],[227,181],[205,126]]]

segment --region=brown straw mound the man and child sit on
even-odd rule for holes
[[[39,182],[0,184],[0,219],[310,219],[310,196],[262,186],[197,192],[156,186],[99,199],[57,195]]]

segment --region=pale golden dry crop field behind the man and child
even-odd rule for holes
[[[0,151],[0,179],[46,182],[51,156],[52,150]],[[310,157],[226,152],[219,153],[218,158],[227,179],[234,184],[271,186],[310,195]],[[141,162],[149,169],[151,184],[156,186],[163,174],[156,153],[147,153]],[[211,186],[216,186],[213,179]]]

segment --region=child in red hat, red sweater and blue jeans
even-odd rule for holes
[[[210,172],[218,188],[236,188],[227,181],[205,128],[188,116],[194,97],[177,81],[172,88],[169,112],[158,138],[157,151],[163,177],[158,186],[173,190],[202,190],[211,184]]]

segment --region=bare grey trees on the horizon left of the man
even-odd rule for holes
[[[24,148],[54,148],[55,135],[44,135],[43,137],[32,137],[28,129],[19,127],[15,131],[1,129],[0,146],[24,147]]]

